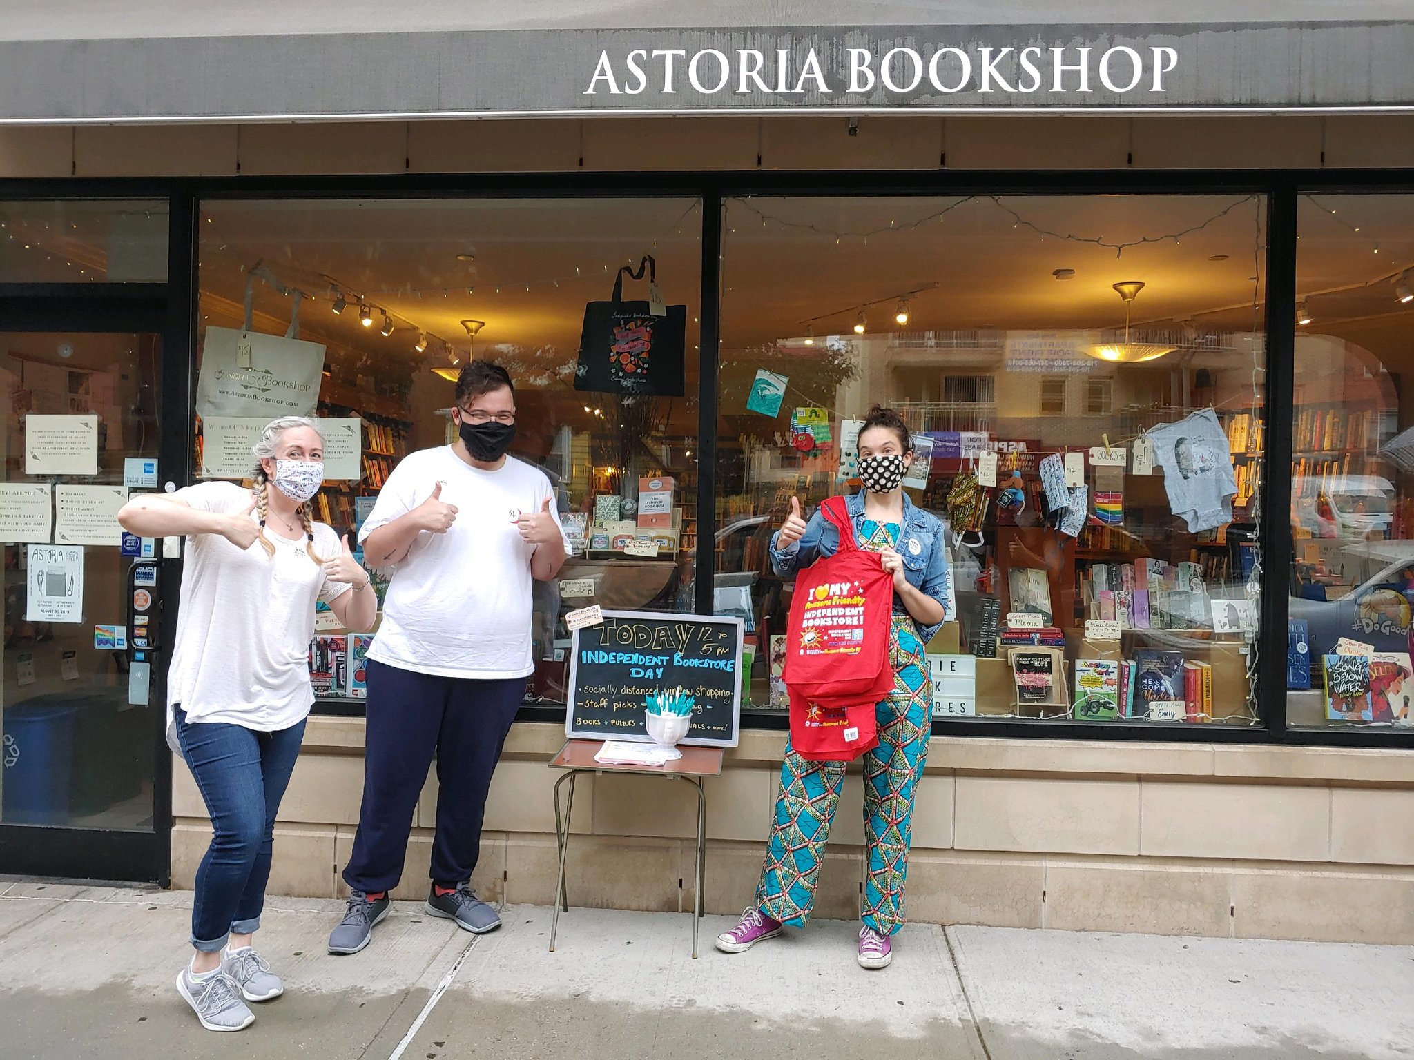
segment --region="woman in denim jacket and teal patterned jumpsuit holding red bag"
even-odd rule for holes
[[[858,946],[861,967],[884,968],[891,960],[889,936],[904,926],[913,791],[932,728],[933,688],[923,653],[947,618],[952,575],[942,523],[915,507],[902,489],[913,448],[898,413],[878,406],[870,410],[860,428],[858,455],[864,489],[847,497],[855,540],[878,553],[884,570],[894,575],[894,691],[878,704],[880,742],[864,756],[868,878]],[[776,574],[790,577],[839,547],[834,524],[819,512],[806,523],[800,502],[792,497],[790,514],[771,540],[771,564]],[[803,927],[810,919],[844,769],[844,762],[806,760],[786,742],[756,899],[732,930],[717,937],[718,950],[744,953],[781,934],[782,926]]]

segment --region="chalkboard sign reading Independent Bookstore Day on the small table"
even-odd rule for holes
[[[574,630],[564,731],[574,738],[652,742],[643,702],[682,685],[697,698],[683,743],[737,746],[741,722],[741,619],[605,611]]]

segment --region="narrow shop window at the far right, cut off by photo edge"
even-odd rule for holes
[[[1305,195],[1297,243],[1292,726],[1414,726],[1414,195]]]

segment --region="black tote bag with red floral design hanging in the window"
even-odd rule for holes
[[[638,271],[628,266],[619,269],[612,300],[584,307],[580,359],[574,369],[575,390],[683,396],[687,307],[667,305],[665,315],[655,317],[648,301],[624,301],[624,274],[642,280],[645,270],[649,283],[656,283],[658,264],[645,257]]]

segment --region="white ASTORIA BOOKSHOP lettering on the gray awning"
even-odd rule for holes
[[[1063,96],[1104,90],[1162,95],[1179,64],[1169,45],[831,48],[632,48],[601,51],[585,96]]]

